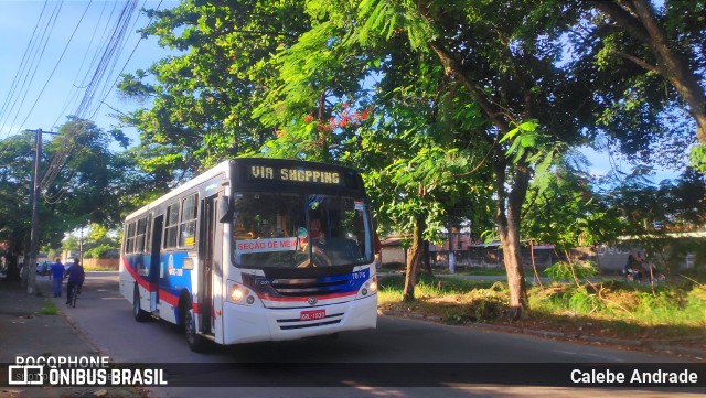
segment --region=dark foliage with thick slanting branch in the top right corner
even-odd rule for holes
[[[582,25],[575,31],[582,34],[574,37],[608,71],[610,83],[605,89],[612,92],[607,97],[614,97],[614,109],[623,115],[642,112],[642,120],[632,120],[633,126],[649,120],[648,115],[661,112],[668,118],[665,109],[686,110],[696,126],[692,137],[700,143],[693,162],[706,170],[706,3],[664,1],[656,6],[649,0],[613,0],[587,4]],[[655,96],[662,100],[654,100]]]

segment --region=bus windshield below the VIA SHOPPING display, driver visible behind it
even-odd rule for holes
[[[233,216],[235,265],[309,268],[373,261],[368,208],[362,198],[238,193]]]

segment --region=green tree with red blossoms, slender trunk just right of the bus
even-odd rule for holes
[[[361,41],[356,6],[307,3],[312,28],[274,60],[279,86],[258,110],[280,131],[265,153],[364,171],[376,218],[410,241],[405,299],[411,300],[424,243],[441,240],[451,209],[466,216],[471,209],[459,211],[462,203],[473,204],[479,192],[489,196],[488,184],[460,178],[471,162],[482,163],[478,154],[488,146],[458,138],[483,120],[448,95],[453,83],[429,54],[416,54],[404,39]]]

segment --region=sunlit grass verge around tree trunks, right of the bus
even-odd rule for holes
[[[434,316],[448,324],[492,323],[623,340],[683,341],[706,348],[706,286],[662,283],[654,288],[620,281],[528,288],[530,310],[509,321],[505,282],[421,277],[416,300],[403,301],[403,277],[381,280],[378,306]]]

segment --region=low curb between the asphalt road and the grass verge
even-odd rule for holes
[[[377,314],[384,315],[384,316],[393,316],[393,318],[406,318],[415,321],[443,323],[441,316],[425,315],[425,314],[419,314],[414,312],[377,310]],[[635,341],[635,340],[601,337],[601,336],[591,336],[591,335],[569,335],[564,332],[493,325],[488,323],[463,323],[459,326],[475,327],[475,329],[496,331],[496,332],[503,332],[503,333],[526,334],[526,335],[539,336],[544,338],[558,338],[558,340],[566,340],[566,341],[576,340],[576,341],[582,341],[587,343],[600,343],[600,344],[630,347],[630,348],[641,347],[641,348],[646,348],[653,352],[687,355],[699,361],[704,361],[706,358],[706,349],[685,347],[685,346],[680,346],[675,344],[665,344],[656,341]]]

